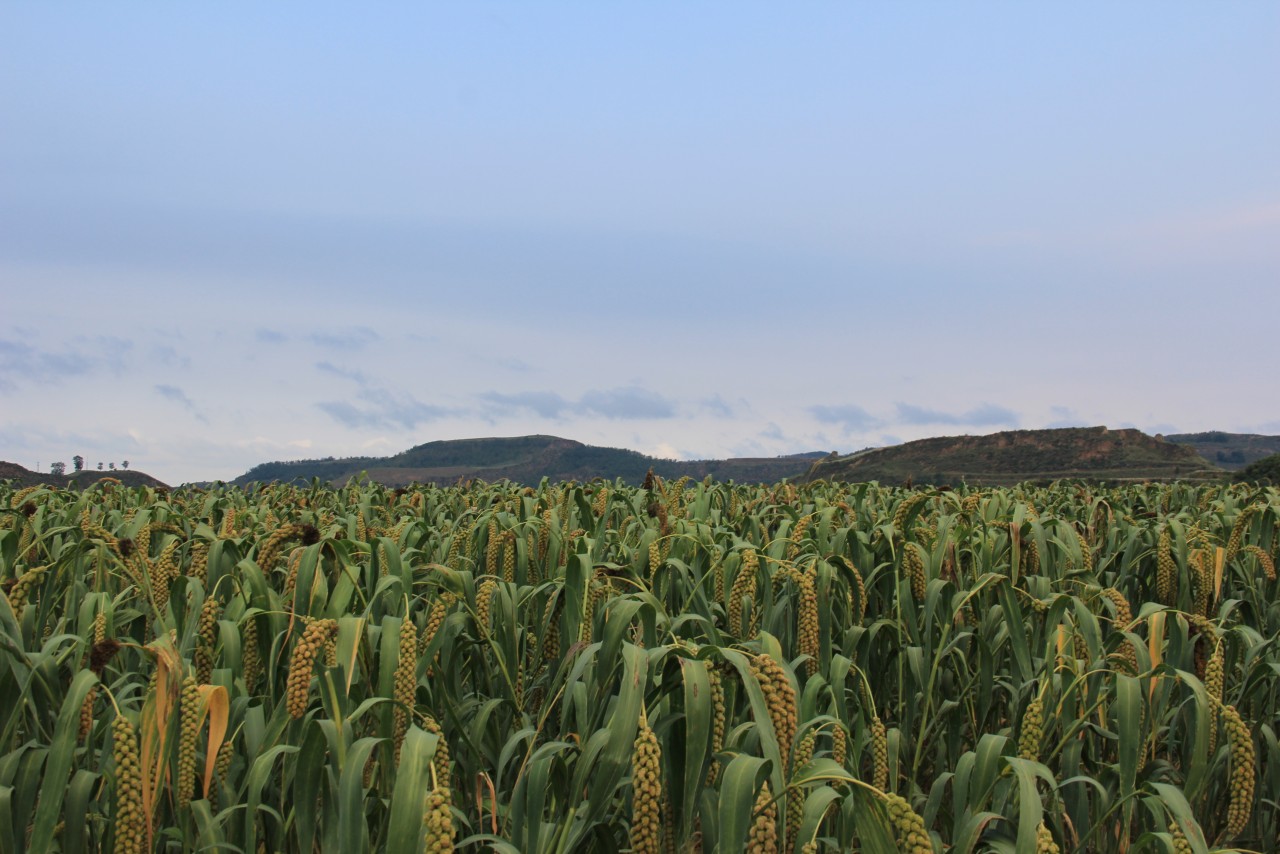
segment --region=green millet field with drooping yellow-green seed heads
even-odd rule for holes
[[[1276,851],[1277,525],[1243,485],[0,484],[0,851]]]

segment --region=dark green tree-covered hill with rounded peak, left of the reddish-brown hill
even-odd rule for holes
[[[652,467],[662,478],[712,475],[717,480],[773,483],[799,478],[822,452],[788,457],[744,457],[735,460],[675,461],[648,457],[636,451],[600,448],[553,435],[522,435],[492,439],[428,442],[392,457],[344,460],[300,460],[265,462],[237,478],[234,484],[253,481],[323,481],[342,484],[361,472],[389,487],[410,483],[451,484],[457,480],[512,480],[536,484],[552,480],[622,478],[639,484]]]

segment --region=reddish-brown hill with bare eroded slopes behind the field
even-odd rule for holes
[[[1192,447],[1164,442],[1140,430],[1097,426],[920,439],[845,457],[824,457],[805,479],[1009,485],[1060,478],[1203,480],[1220,475],[1221,470]]]

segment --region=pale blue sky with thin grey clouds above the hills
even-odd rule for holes
[[[1280,4],[0,8],[0,460],[1280,433]]]

